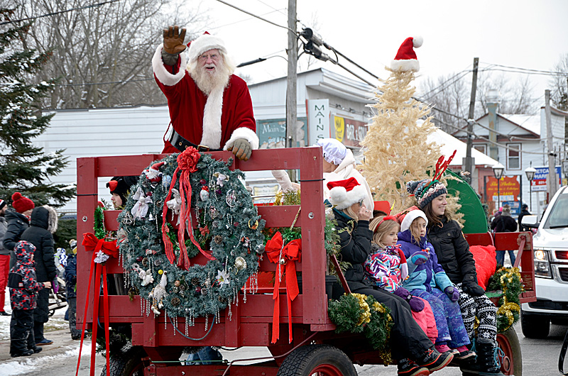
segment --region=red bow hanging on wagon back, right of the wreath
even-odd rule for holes
[[[280,280],[282,280],[282,267],[286,275],[286,297],[288,303],[288,343],[292,343],[292,301],[300,294],[297,287],[296,261],[302,262],[302,240],[295,239],[284,245],[280,231],[274,234],[264,247],[266,256],[271,262],[278,265],[278,272],[274,279],[274,311],[272,315],[272,343],[276,343],[280,337]],[[284,264],[280,260],[285,260]]]

